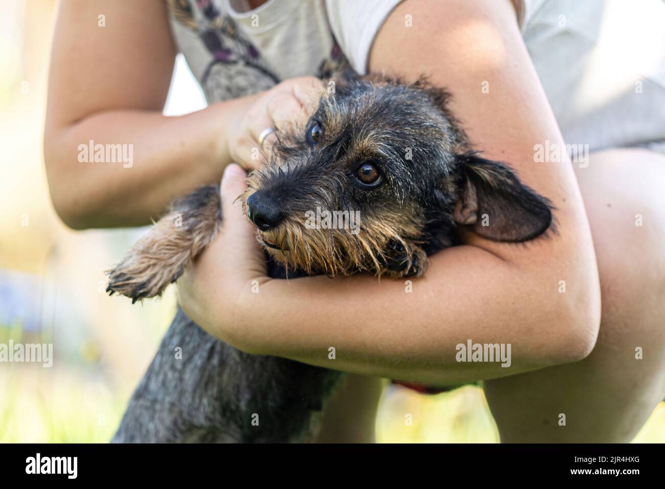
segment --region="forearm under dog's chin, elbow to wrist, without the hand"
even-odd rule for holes
[[[238,346],[352,373],[432,383],[515,375],[585,357],[595,343],[589,329],[594,319],[584,312],[597,299],[593,287],[569,284],[560,293],[558,273],[531,267],[539,265],[525,268],[460,246],[432,257],[425,277],[412,282],[307,277],[269,280],[257,289],[250,281],[235,315],[243,330]],[[463,349],[462,358],[471,355],[469,342],[499,345],[509,357],[459,361]]]

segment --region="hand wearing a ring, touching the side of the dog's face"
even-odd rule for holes
[[[316,110],[323,89],[321,80],[299,77],[253,96],[249,108],[235,111],[236,117],[228,126],[228,160],[240,164],[245,170],[259,168],[269,160],[271,146],[277,139],[275,132],[265,136],[264,131],[305,122]]]

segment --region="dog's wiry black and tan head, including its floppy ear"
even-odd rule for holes
[[[269,253],[308,273],[401,276],[422,273],[422,247],[450,246],[456,224],[501,241],[545,232],[547,200],[469,151],[447,98],[424,82],[351,81],[305,127],[277,128],[243,196]]]

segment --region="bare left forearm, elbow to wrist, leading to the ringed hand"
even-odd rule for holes
[[[229,163],[223,137],[229,120],[252,99],[179,117],[108,110],[64,128],[47,126],[45,160],[57,212],[78,229],[149,224],[174,198],[219,181]]]

